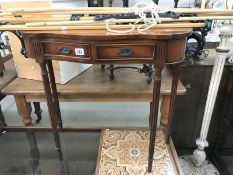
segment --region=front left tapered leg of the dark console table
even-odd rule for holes
[[[61,149],[60,138],[59,138],[59,133],[58,133],[58,128],[57,128],[57,115],[55,112],[56,109],[55,109],[55,105],[53,102],[52,88],[50,86],[46,62],[40,63],[40,67],[41,67],[41,75],[42,75],[44,89],[45,89],[45,93],[46,93],[50,122],[51,122],[52,129],[53,129],[56,149]]]

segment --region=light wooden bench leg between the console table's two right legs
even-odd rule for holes
[[[162,98],[161,104],[161,119],[160,123],[167,126],[168,124],[168,115],[169,115],[169,106],[170,106],[170,95],[164,95]]]

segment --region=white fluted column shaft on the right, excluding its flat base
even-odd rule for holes
[[[193,153],[193,163],[196,166],[201,166],[206,159],[206,154],[204,152],[204,148],[208,146],[207,142],[207,134],[209,131],[210,121],[213,114],[213,109],[226,61],[227,53],[229,49],[227,48],[226,44],[227,41],[232,37],[233,27],[231,26],[224,26],[221,30],[220,37],[220,45],[216,49],[216,60],[214,63],[212,76],[209,85],[208,96],[206,100],[205,112],[202,121],[202,128],[200,132],[200,137],[196,140],[196,144],[198,149],[196,149]]]

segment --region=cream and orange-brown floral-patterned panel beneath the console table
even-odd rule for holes
[[[96,175],[175,175],[163,131],[157,131],[152,173],[147,173],[149,131],[105,130]]]

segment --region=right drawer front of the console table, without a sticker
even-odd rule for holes
[[[96,59],[98,60],[154,60],[154,44],[108,44],[96,45]]]

